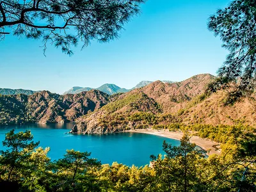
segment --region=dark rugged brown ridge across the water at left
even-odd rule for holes
[[[33,95],[1,95],[0,125],[74,121],[107,104],[108,97],[97,90],[64,96],[47,91]]]

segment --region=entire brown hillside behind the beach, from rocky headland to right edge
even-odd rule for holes
[[[256,102],[245,99],[224,106],[223,92],[205,97],[205,86],[212,79],[214,76],[201,74],[179,83],[156,81],[124,93],[94,113],[78,118],[77,131],[107,133],[177,124],[256,125]]]

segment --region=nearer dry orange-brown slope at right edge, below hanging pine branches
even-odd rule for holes
[[[202,102],[184,109],[180,116],[185,124],[235,125],[246,124],[256,126],[256,102],[243,99],[233,106],[225,106],[226,93],[220,91],[212,94]]]

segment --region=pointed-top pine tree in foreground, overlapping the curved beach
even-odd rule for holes
[[[179,147],[164,141],[164,159],[162,156],[158,156],[157,159],[152,156],[152,159],[155,159],[157,191],[200,191],[205,177],[205,150],[198,150],[195,147],[195,144],[189,143],[188,133],[180,140]]]

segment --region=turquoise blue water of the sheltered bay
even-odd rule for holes
[[[91,157],[101,163],[118,163],[132,166],[143,166],[150,161],[150,155],[163,154],[162,145],[168,143],[179,146],[180,141],[133,132],[120,132],[103,135],[76,135],[67,134],[74,124],[31,124],[0,127],[0,141],[4,140],[6,132],[15,129],[15,132],[31,130],[34,141],[40,141],[40,147],[50,147],[49,157],[52,160],[60,159],[67,149],[81,152],[92,152]],[[0,150],[3,145],[0,143]]]

